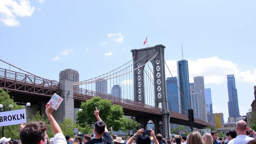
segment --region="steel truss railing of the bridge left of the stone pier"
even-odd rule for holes
[[[10,71],[0,68],[0,79],[14,80],[21,83],[40,85],[43,87],[51,87],[57,89],[59,87],[58,81],[47,80],[32,75],[22,74],[20,72]]]

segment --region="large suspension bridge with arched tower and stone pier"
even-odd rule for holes
[[[99,96],[122,106],[124,114],[136,117],[142,128],[146,128],[148,121],[152,120],[155,124],[155,132],[168,136],[170,123],[186,126],[190,126],[190,123],[187,115],[168,110],[166,93],[171,93],[165,84],[167,65],[164,64],[164,48],[163,45],[156,45],[134,49],[133,59],[125,65],[85,81],[79,81],[78,72],[72,69],[61,71],[58,82],[30,73],[23,74],[0,68],[0,89],[9,90],[15,102],[21,104],[30,102],[32,108],[34,107],[34,111],[30,110],[30,114],[36,111],[44,113],[44,105],[53,93],[57,93],[64,99],[62,107],[53,113],[58,121],[62,121],[63,117],[74,117],[74,108],[80,108],[81,102]],[[151,66],[148,66],[149,62]],[[111,94],[105,89],[108,84],[113,86]],[[80,88],[79,85],[85,86],[85,89]],[[120,93],[123,96],[120,96]],[[175,102],[180,110],[184,109],[177,101]],[[212,127],[210,123],[197,118],[193,124],[199,129]]]

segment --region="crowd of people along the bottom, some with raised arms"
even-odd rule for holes
[[[20,125],[20,139],[1,138],[0,144],[256,144],[256,132],[247,126],[245,121],[236,123],[236,130],[229,130],[225,138],[219,138],[216,131],[205,133],[203,136],[198,131],[192,131],[187,136],[175,135],[174,138],[163,138],[163,136],[151,129],[145,133],[144,129],[139,129],[134,135],[127,139],[111,136],[107,129],[107,124],[99,117],[99,111],[95,107],[94,115],[97,120],[94,123],[94,135],[76,136],[70,138],[64,136],[58,123],[52,116],[53,108],[46,105],[46,115],[49,118],[53,138],[48,138],[46,133],[47,125],[43,121],[32,121],[28,124]]]

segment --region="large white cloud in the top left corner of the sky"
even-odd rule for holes
[[[20,22],[17,17],[30,17],[35,10],[34,6],[30,6],[29,0],[0,0],[0,21],[6,26],[19,26]]]

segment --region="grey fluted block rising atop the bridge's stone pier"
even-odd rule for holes
[[[73,83],[76,83],[79,82],[79,73],[73,69],[65,69],[59,72],[59,80],[61,79],[72,80]],[[79,85],[75,85],[75,87],[79,87]]]

